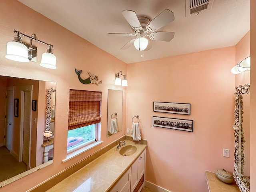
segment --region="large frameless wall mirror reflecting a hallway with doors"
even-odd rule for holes
[[[48,144],[46,130],[46,95],[55,90],[55,82],[0,76],[0,187],[9,184],[38,169],[52,164],[51,150],[44,160]],[[55,91],[51,95],[51,107],[55,109]],[[51,113],[50,126],[54,126]],[[48,127],[54,132],[54,127]]]

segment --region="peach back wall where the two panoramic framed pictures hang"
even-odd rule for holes
[[[205,170],[233,171],[235,54],[232,46],[128,64],[126,126],[139,114],[147,181],[172,192],[206,192]],[[191,115],[153,112],[154,101],[190,103]],[[194,132],[154,127],[152,116],[194,120]]]

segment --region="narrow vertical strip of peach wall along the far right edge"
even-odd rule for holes
[[[250,191],[256,191],[256,1],[251,0],[250,26]]]

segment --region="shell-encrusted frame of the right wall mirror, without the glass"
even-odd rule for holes
[[[250,180],[248,176],[244,175],[244,129],[242,126],[244,104],[243,95],[250,93],[250,84],[236,86],[235,88],[235,122],[233,124],[234,137],[235,137],[235,150],[234,150],[234,180],[241,192],[250,191]]]

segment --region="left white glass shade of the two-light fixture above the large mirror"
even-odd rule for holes
[[[5,57],[13,61],[28,62],[28,48],[20,42],[10,41],[7,43]]]

